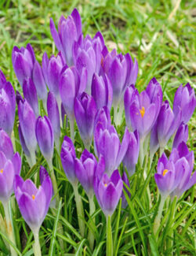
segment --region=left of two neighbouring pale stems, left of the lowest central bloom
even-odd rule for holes
[[[85,214],[84,214],[84,209],[82,205],[82,199],[81,196],[78,193],[78,184],[73,184],[73,189],[74,189],[74,200],[76,203],[76,209],[78,213],[78,225],[80,229],[80,233],[82,236],[85,236]]]

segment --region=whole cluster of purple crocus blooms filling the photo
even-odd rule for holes
[[[130,54],[107,50],[100,32],[93,38],[84,36],[77,9],[67,19],[60,17],[57,30],[51,19],[50,31],[59,52],[50,58],[44,53],[42,66],[30,44],[26,48],[13,47],[13,69],[24,98],[19,91],[15,98],[11,83],[0,71],[0,200],[8,201],[14,188],[24,220],[33,232],[38,232],[53,194],[54,180],[52,185],[43,167],[39,188],[20,176],[20,155],[13,153],[9,138],[16,103],[20,143],[29,164],[36,163],[39,147],[51,170],[55,144],[67,180],[74,189],[79,181],[89,202],[96,195],[106,217],[114,213],[120,198],[122,207],[127,205],[123,186],[130,196],[129,176],[135,173],[139,159],[141,166],[144,157],[150,156],[152,161],[158,148],[161,158],[154,179],[161,194],[180,197],[193,186],[196,183],[196,174],[191,176],[194,154],[186,145],[187,122],[196,106],[190,84],[180,85],[172,108],[167,100],[163,102],[162,87],[155,78],[139,93],[136,59],[132,61]],[[114,118],[110,113],[112,106]],[[119,137],[123,109],[126,127]],[[64,130],[65,115],[71,138]],[[74,121],[85,147],[80,158],[74,148]],[[167,158],[164,149],[172,136],[175,136],[172,152]]]

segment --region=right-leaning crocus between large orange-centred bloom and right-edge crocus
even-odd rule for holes
[[[151,131],[151,156],[158,150],[158,147],[161,148],[161,152],[164,150],[169,138],[179,127],[181,117],[182,111],[180,108],[179,112],[174,114],[169,106],[169,102],[163,102],[158,119]]]

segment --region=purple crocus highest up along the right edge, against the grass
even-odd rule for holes
[[[191,88],[190,83],[187,83],[185,87],[181,84],[177,89],[173,100],[173,113],[176,116],[179,112],[179,108],[182,109],[181,121],[187,124],[190,120],[196,106],[196,99],[194,95],[194,88]]]

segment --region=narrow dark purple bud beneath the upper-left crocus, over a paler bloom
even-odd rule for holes
[[[24,98],[26,98],[27,102],[31,105],[35,116],[38,117],[38,95],[34,82],[31,80],[31,78],[24,79],[23,91]]]

